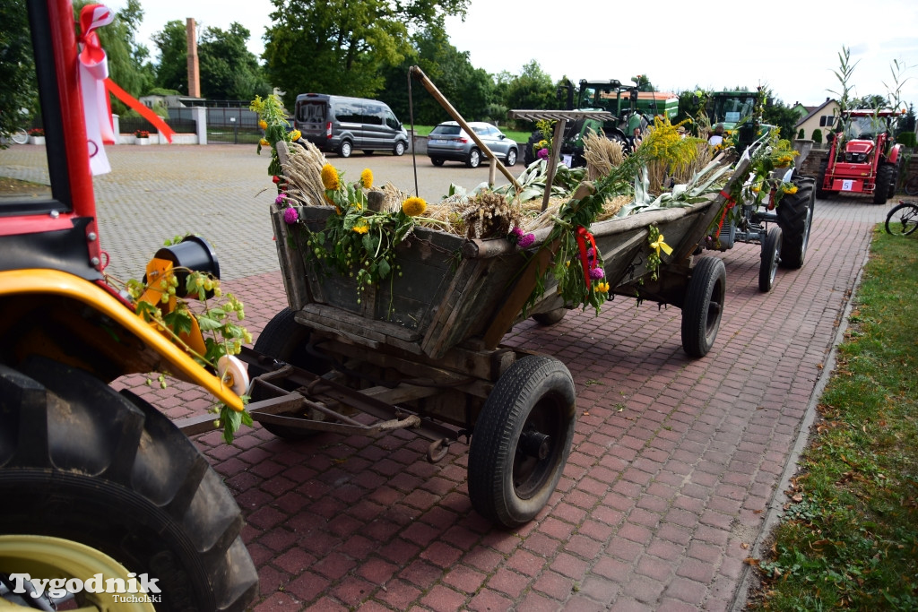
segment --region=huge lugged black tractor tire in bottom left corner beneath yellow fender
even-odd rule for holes
[[[140,397],[33,357],[20,371],[0,365],[0,422],[4,535],[77,542],[147,573],[161,589],[158,611],[241,611],[258,595],[239,506]],[[5,552],[14,562],[26,554]]]

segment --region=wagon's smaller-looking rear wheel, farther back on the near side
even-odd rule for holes
[[[692,269],[682,305],[682,349],[689,357],[711,351],[721,327],[727,270],[717,257],[702,257]]]

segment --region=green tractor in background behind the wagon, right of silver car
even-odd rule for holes
[[[627,152],[632,148],[635,129],[643,132],[657,115],[669,119],[676,117],[679,102],[677,95],[655,92],[653,85],[644,76],[639,75],[632,80],[634,84],[629,85],[617,79],[584,79],[576,87],[567,81],[558,88],[559,98],[566,97],[565,110],[602,110],[613,116],[605,122],[590,118],[577,119],[565,126],[561,159],[567,165],[572,168],[587,165],[583,157],[583,140],[589,131],[605,134],[610,140],[618,140]],[[537,159],[537,145],[549,136],[542,130],[532,132],[523,151],[526,165]]]

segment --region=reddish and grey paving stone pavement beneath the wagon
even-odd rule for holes
[[[257,337],[286,306],[263,214],[266,160],[256,168],[242,147],[145,148],[142,157],[121,149],[116,172],[95,184],[113,260],[117,252],[146,261],[185,220],[207,220],[224,286],[246,304]],[[0,174],[28,165],[5,154]],[[170,161],[151,166],[162,155]],[[185,172],[192,167],[201,170]],[[136,188],[144,172],[155,188]],[[805,265],[780,270],[768,294],[758,291],[757,245],[706,253],[726,264],[727,298],[700,360],[682,351],[679,309],[621,296],[598,317],[575,311],[550,328],[514,328],[506,344],[565,362],[578,411],[561,483],[521,529],[495,529],[472,510],[463,444],[430,464],[427,443],[405,431],[292,443],[256,425],[232,445],[197,436],[247,520],[261,577],[253,609],[742,607],[744,559],[783,502],[782,474],[831,363],[873,224],[892,204],[818,202]],[[210,406],[193,385],[144,383],[131,376],[116,386],[173,418]]]

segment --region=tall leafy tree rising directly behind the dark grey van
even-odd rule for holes
[[[465,16],[469,0],[272,0],[263,58],[271,83],[293,106],[301,92],[373,96],[383,70],[410,55],[409,34],[444,15]]]

